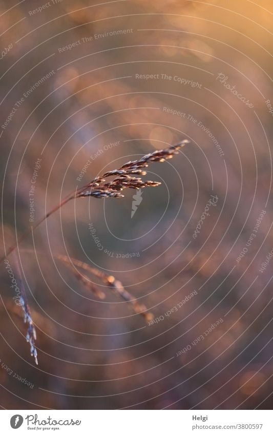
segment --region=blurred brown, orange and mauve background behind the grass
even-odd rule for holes
[[[38,158],[34,221],[101,171],[184,138],[191,144],[173,160],[149,167],[148,179],[162,185],[143,190],[133,218],[133,190],[123,199],[78,199],[20,246],[37,367],[1,265],[1,364],[34,384],[29,388],[2,367],[1,406],[270,408],[273,262],[263,273],[259,269],[273,247],[272,116],[265,102],[273,101],[271,2],[130,0],[97,6],[63,0],[29,13],[41,5],[0,5],[1,46],[13,45],[1,60],[2,125],[34,87],[1,136],[6,248],[31,225],[29,192]],[[254,107],[230,92],[219,74]],[[194,239],[210,195],[217,195],[217,205],[210,206]],[[237,262],[263,210],[256,237]],[[53,253],[114,275],[164,319],[145,324],[90,276],[107,294],[97,300]],[[9,260],[13,265],[14,257]],[[192,292],[197,294],[165,315]]]

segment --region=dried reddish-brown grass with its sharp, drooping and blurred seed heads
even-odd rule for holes
[[[146,172],[143,171],[143,169],[147,168],[149,163],[151,162],[157,162],[157,161],[163,162],[167,159],[172,158],[173,155],[177,154],[178,150],[181,147],[183,147],[186,143],[188,143],[188,140],[182,140],[181,142],[171,146],[170,148],[166,148],[160,151],[154,151],[153,153],[146,154],[139,160],[134,160],[134,161],[129,161],[127,163],[124,163],[121,166],[121,168],[114,169],[113,171],[108,171],[104,173],[102,176],[96,177],[94,180],[90,181],[87,185],[83,186],[82,188],[77,189],[75,192],[73,192],[73,194],[67,195],[66,198],[64,198],[58,205],[56,205],[54,209],[48,212],[46,216],[44,216],[42,219],[37,221],[37,223],[34,226],[32,226],[28,232],[23,234],[18,239],[16,245],[11,246],[7,250],[6,255],[4,255],[0,259],[0,263],[4,261],[5,258],[8,257],[8,255],[10,255],[18,247],[18,245],[40,225],[40,223],[45,221],[50,215],[52,215],[57,210],[59,210],[62,207],[62,205],[65,205],[68,201],[72,199],[85,198],[87,196],[92,196],[94,198],[110,198],[110,197],[120,198],[124,196],[121,194],[121,192],[127,188],[139,190],[145,187],[158,186],[161,183],[157,181],[142,180],[141,177],[146,175]],[[136,175],[138,176],[136,177]],[[106,178],[108,177],[114,177],[114,178],[111,181],[107,182]],[[124,301],[129,302],[132,308],[134,309],[134,312],[143,316],[147,322],[153,319],[154,317],[153,314],[147,310],[146,306],[144,304],[139,304],[136,301],[136,299],[124,289],[121,282],[115,279],[115,277],[111,275],[107,275],[97,270],[96,268],[89,266],[87,263],[83,263],[82,261],[76,260],[74,258],[69,258],[64,255],[55,255],[54,257],[62,261],[62,263],[64,263],[73,272],[75,277],[80,282],[82,282],[83,285],[85,285],[90,291],[92,291],[98,298],[103,299],[105,297],[104,293],[101,292],[96,285],[91,283],[86,275],[79,273],[74,266],[78,266],[83,270],[96,276],[97,278],[101,279],[102,282],[106,284],[116,295],[118,295]],[[31,355],[34,357],[35,363],[38,364],[37,350],[35,347],[36,331],[32,321],[32,317],[27,301],[27,296],[25,292],[24,282],[22,279],[22,274],[20,272],[20,267],[16,257],[15,259],[16,259],[17,274],[19,277],[20,288],[21,288],[20,305],[22,306],[24,311],[25,323],[28,323],[28,332],[26,335],[26,339],[30,343]]]

